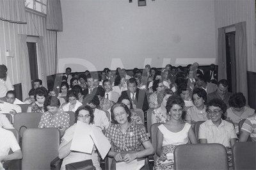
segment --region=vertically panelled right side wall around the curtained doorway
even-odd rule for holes
[[[255,8],[255,0],[214,0],[216,45],[218,42],[218,28],[245,21],[247,66],[248,71],[251,72],[256,72]]]

